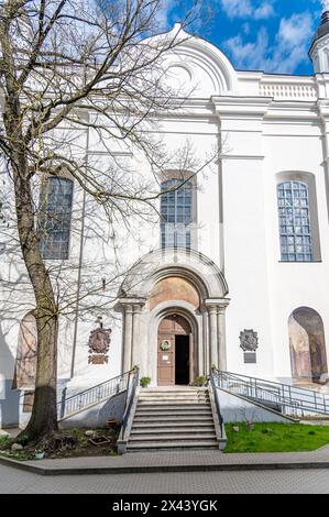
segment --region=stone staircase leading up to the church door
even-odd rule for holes
[[[140,391],[127,452],[218,447],[208,388]]]

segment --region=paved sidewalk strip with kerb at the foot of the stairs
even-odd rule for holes
[[[0,463],[6,462],[0,458]],[[18,462],[17,462],[18,463]],[[52,474],[136,473],[202,470],[255,470],[284,468],[329,469],[329,444],[312,452],[224,454],[216,450],[186,452],[145,452],[123,457],[69,458],[61,460],[19,462],[18,466],[42,469]],[[44,473],[44,472],[43,472]],[[329,475],[328,475],[329,477]]]

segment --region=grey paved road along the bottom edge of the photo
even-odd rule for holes
[[[40,476],[0,465],[0,494],[329,494],[325,470]]]

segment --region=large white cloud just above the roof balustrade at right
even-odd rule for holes
[[[237,68],[292,74],[308,61],[308,46],[314,33],[314,20],[309,12],[283,18],[277,35],[271,44],[265,28],[261,28],[255,41],[245,41],[242,34],[223,44]]]

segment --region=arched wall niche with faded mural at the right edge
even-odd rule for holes
[[[299,307],[290,315],[288,328],[294,381],[325,383],[328,365],[320,315],[308,307]]]

